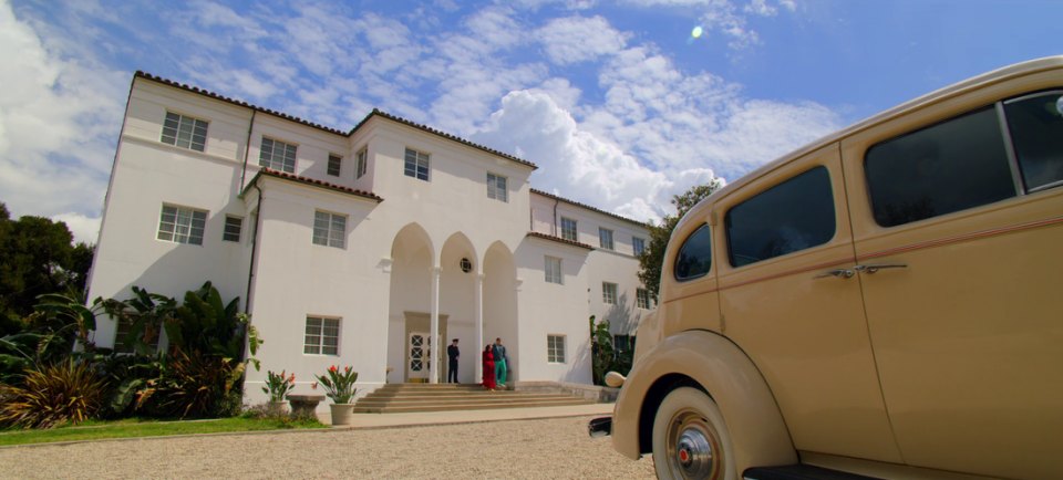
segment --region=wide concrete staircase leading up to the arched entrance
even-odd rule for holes
[[[359,399],[354,404],[354,411],[398,414],[587,404],[594,401],[557,393],[487,392],[479,385],[468,384],[388,384]]]

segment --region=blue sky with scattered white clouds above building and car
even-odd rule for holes
[[[1063,0],[0,0],[0,201],[93,243],[133,72],[372,108],[636,220],[905,101],[1063,54]]]

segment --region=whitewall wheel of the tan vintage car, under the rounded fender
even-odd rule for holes
[[[653,418],[653,466],[659,479],[735,480],[731,436],[716,403],[680,387]]]

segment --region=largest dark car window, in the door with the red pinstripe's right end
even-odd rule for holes
[[[875,145],[864,168],[875,220],[883,227],[1015,195],[993,107]]]

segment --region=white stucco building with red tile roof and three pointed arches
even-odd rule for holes
[[[588,316],[633,334],[651,306],[648,233],[533,189],[535,169],[379,111],[344,133],[137,72],[89,298],[205,280],[239,296],[266,341],[252,403],[267,369],[295,372],[297,393],[333,364],[360,394],[443,380],[429,345],[451,338],[463,383],[502,337],[514,380],[589,384]],[[95,343],[116,331],[101,319]]]

